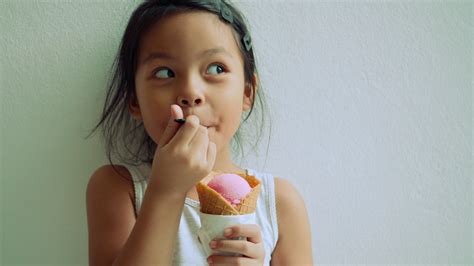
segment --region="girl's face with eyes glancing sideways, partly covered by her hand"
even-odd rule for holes
[[[197,115],[209,127],[218,151],[228,147],[251,108],[243,59],[230,25],[207,12],[182,12],[161,19],[143,36],[135,74],[135,119],[158,143],[178,104],[186,118]]]

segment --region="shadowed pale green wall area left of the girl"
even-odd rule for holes
[[[71,2],[0,3],[3,265],[87,263],[84,136],[134,4]]]

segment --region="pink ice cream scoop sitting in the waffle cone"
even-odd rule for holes
[[[234,206],[239,204],[252,190],[249,183],[243,177],[236,174],[215,176],[207,185]]]

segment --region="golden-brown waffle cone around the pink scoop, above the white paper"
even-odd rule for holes
[[[215,176],[221,174],[220,172],[212,172]],[[252,175],[240,174],[249,183],[252,190],[249,194],[236,206],[232,206],[221,194],[210,188],[207,183],[211,177],[205,178],[196,185],[196,190],[201,204],[201,212],[216,215],[242,215],[249,214],[255,211],[257,207],[257,200],[260,194],[260,181]]]

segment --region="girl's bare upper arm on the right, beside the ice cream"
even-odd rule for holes
[[[303,198],[293,185],[275,178],[278,242],[271,265],[312,265],[311,229]]]

